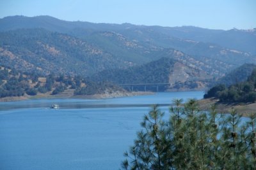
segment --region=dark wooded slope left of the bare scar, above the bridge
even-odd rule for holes
[[[129,83],[168,83],[170,69],[175,61],[173,59],[161,58],[142,66],[129,67],[127,69],[106,70],[90,77],[93,81],[112,81],[116,84]],[[137,88],[137,87],[134,87]],[[150,87],[149,87],[150,88]],[[159,90],[166,87],[160,86]],[[156,87],[154,87],[154,90]]]

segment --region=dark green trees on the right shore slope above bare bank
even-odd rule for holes
[[[247,81],[225,87],[223,84],[212,87],[204,98],[216,97],[221,102],[250,102],[256,101],[256,69],[248,76]]]

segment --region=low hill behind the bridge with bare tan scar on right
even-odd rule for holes
[[[172,59],[171,57],[163,57],[159,60],[143,64],[142,66],[106,70],[89,77],[93,81],[108,80],[116,84],[170,84],[161,87],[160,90],[204,89],[208,85],[210,78],[211,76],[205,73],[205,71],[183,64],[179,60]],[[140,87],[136,88],[138,90]],[[151,90],[156,90],[156,88],[151,87]]]

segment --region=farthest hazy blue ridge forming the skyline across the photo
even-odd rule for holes
[[[203,29],[200,27],[183,26],[183,27],[161,27],[161,26],[145,26],[145,25],[132,25],[132,24],[95,24],[90,22],[68,22],[59,20],[50,16],[37,16],[37,17],[24,17],[12,16],[0,19],[0,31],[10,31],[15,29],[31,29],[31,28],[44,28],[49,31],[56,32],[71,32],[75,29],[87,29],[90,32],[95,31],[115,31],[124,34],[132,39],[147,38],[147,34],[158,36],[162,39],[175,37],[179,39],[191,39],[194,41],[201,41],[206,43],[214,43],[216,45],[224,46],[226,48],[237,49],[243,52],[249,52],[253,55],[256,54],[254,45],[256,43],[256,29],[239,30],[231,29],[212,30]],[[237,41],[239,39],[239,41]],[[159,43],[154,39],[148,39],[151,42]],[[160,41],[163,43],[163,41]],[[164,43],[167,45],[166,43]],[[171,47],[172,46],[165,46]]]

